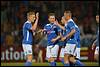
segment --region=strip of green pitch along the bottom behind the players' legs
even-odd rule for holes
[[[83,62],[85,66],[99,66],[96,62]],[[24,63],[1,63],[1,66],[24,66]],[[33,63],[32,66],[49,66],[49,63]],[[57,66],[63,66],[61,62],[57,62]]]

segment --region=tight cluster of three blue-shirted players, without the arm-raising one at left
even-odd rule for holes
[[[50,65],[56,66],[55,60],[60,44],[63,46],[60,57],[64,66],[69,66],[70,62],[83,66],[84,64],[74,57],[80,58],[80,30],[71,19],[71,11],[64,12],[64,16],[61,19],[63,26],[56,20],[55,14],[50,13],[48,18],[50,23],[44,27],[44,31],[48,39],[46,57]]]

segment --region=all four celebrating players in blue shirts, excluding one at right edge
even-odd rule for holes
[[[32,65],[32,41],[33,33],[36,30],[39,20],[39,13],[28,12],[27,21],[23,25],[22,46],[27,57],[25,66]],[[44,26],[41,32],[47,35],[46,59],[50,66],[56,66],[59,47],[60,60],[64,66],[84,66],[80,62],[80,30],[72,19],[72,13],[69,10],[64,12],[61,22],[58,22],[54,13],[48,15],[49,24]],[[32,25],[31,22],[34,22]],[[60,45],[60,46],[59,46]]]

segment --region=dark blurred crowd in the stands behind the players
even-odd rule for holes
[[[80,28],[81,46],[88,47],[96,38],[97,4],[98,1],[1,1],[1,45],[21,45],[27,11],[36,10],[40,13],[39,30],[48,23],[49,12],[55,12],[60,20],[67,8],[72,11],[73,19]],[[46,36],[36,34],[34,44],[46,47]]]

